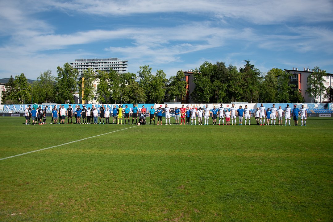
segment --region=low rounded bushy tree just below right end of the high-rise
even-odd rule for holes
[[[131,82],[124,89],[123,103],[145,103],[146,95],[137,82]]]

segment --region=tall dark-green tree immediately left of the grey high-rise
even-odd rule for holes
[[[59,104],[74,103],[74,94],[77,90],[78,70],[65,63],[64,67],[57,67],[58,77],[55,86],[56,101]]]

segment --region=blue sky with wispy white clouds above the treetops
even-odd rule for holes
[[[333,73],[332,0],[0,1],[0,78],[75,59],[128,60],[167,77],[216,61]]]

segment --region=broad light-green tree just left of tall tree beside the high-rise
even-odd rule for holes
[[[51,70],[41,72],[37,81],[32,84],[32,95],[35,103],[55,102],[55,79]]]

